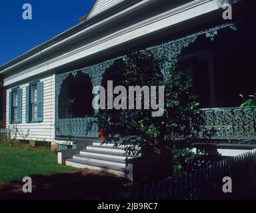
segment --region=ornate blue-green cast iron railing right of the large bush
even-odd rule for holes
[[[256,136],[256,107],[203,109],[207,130],[213,130],[211,138],[251,139]],[[203,137],[203,132],[199,132]]]

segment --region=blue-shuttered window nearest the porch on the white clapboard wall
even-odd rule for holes
[[[26,122],[43,121],[43,83],[30,83],[26,88]]]

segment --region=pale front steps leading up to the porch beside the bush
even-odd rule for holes
[[[65,160],[67,166],[75,168],[90,168],[111,172],[118,176],[126,176],[125,146],[113,147],[115,143],[102,144],[93,141],[92,145],[86,146],[85,150],[79,150],[79,154],[73,154],[73,158]]]

